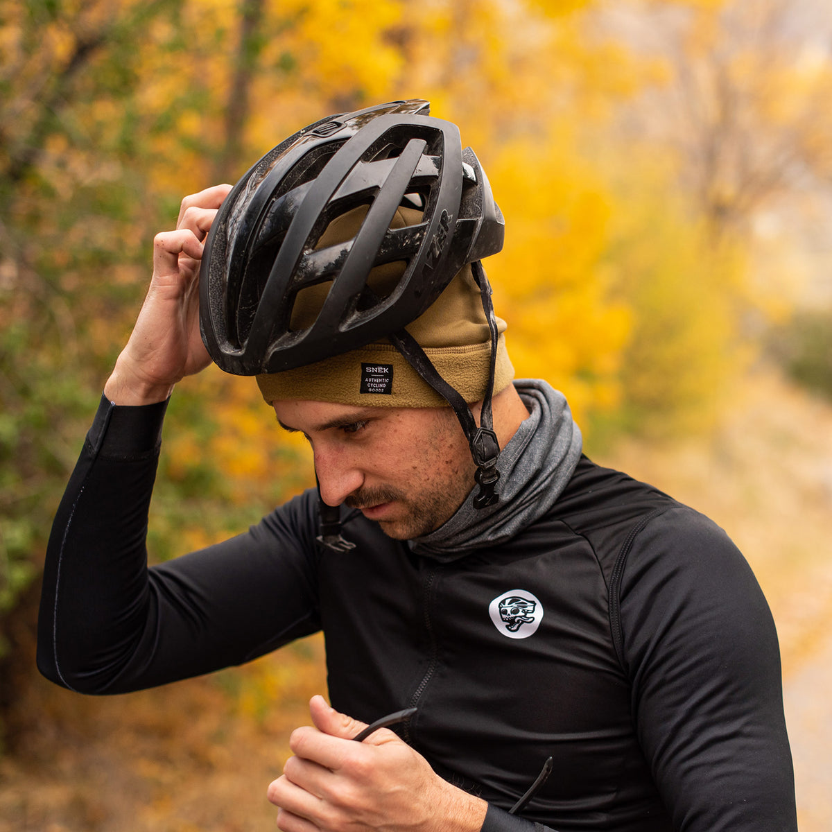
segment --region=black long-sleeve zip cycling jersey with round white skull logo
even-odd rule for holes
[[[333,706],[417,706],[404,739],[488,800],[487,832],[796,830],[774,623],[701,514],[582,458],[545,517],[453,562],[346,510],[354,549],[320,547],[308,492],[147,569],[164,409],[102,401],[87,436],[47,553],[52,681],[134,691],[323,630]]]

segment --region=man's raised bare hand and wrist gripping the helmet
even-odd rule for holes
[[[200,262],[203,242],[230,189],[217,185],[186,196],[176,230],[156,235],[150,288],[104,386],[112,402],[164,401],[177,381],[210,364],[200,336]]]

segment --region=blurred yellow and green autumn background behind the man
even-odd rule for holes
[[[0,830],[261,830],[312,638],[87,699],[34,669],[52,514],[151,240],[329,113],[456,121],[507,218],[486,264],[521,375],[602,463],[720,522],[780,633],[800,828],[832,828],[828,0],[0,0]],[[176,390],[152,557],[312,482],[250,379]]]

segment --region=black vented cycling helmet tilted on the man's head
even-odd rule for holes
[[[329,116],[263,156],[226,197],[200,275],[201,330],[228,373],[275,373],[389,336],[418,318],[463,265],[503,247],[503,216],[458,127],[428,116],[428,102],[392,102]],[[353,239],[318,248],[329,223],[358,206]],[[421,210],[390,229],[399,206]],[[417,214],[418,216],[418,214]],[[379,296],[375,266],[404,271]],[[329,284],[305,329],[295,299]]]

